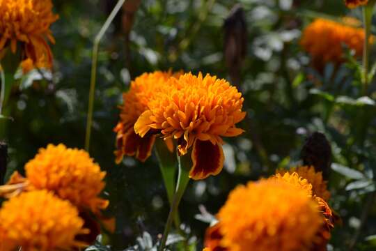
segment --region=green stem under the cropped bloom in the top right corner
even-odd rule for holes
[[[363,47],[363,95],[368,93],[368,72],[369,72],[369,57],[370,57],[370,27],[372,21],[373,4],[363,7],[363,22],[366,37],[364,39]]]

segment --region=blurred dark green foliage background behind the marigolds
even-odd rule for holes
[[[228,28],[224,21],[237,3],[244,22]],[[23,172],[24,163],[49,143],[84,148],[93,38],[116,1],[54,4],[60,19],[52,25],[52,79],[13,88],[6,104],[14,119],[3,129],[10,147],[8,174]],[[113,128],[131,79],[152,70],[182,69],[235,82],[248,114],[239,125],[246,133],[225,139],[224,171],[191,181],[182,200],[180,215],[192,246],[201,250],[207,227],[195,218],[198,206],[215,214],[237,184],[301,164],[304,139],[320,131],[329,139],[336,163],[329,204],[343,220],[334,229],[329,250],[349,250],[355,238],[354,250],[376,249],[376,87],[372,82],[370,97],[359,100],[356,61],[329,64],[322,73],[309,66],[299,38],[304,26],[320,15],[360,19],[361,10],[348,10],[342,0],[143,0],[131,29],[129,13],[116,17],[100,45],[91,138],[91,156],[107,171],[107,215],[116,216],[117,222],[116,233],[105,243],[124,250],[143,231],[153,241],[163,231],[169,203],[155,155],[145,163],[125,158],[116,165]],[[232,36],[243,50],[237,52],[236,63],[226,63]]]

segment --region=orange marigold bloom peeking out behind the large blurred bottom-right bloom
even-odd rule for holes
[[[287,171],[284,169],[277,170],[277,174],[285,174],[286,172],[292,174],[296,172],[301,178],[306,178],[306,180],[311,183],[313,195],[316,195],[324,201],[328,201],[330,198],[330,192],[327,190],[327,181],[322,178],[322,172],[315,172],[315,167],[293,167]]]

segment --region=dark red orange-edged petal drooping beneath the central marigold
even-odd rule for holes
[[[191,153],[193,166],[189,178],[200,180],[217,175],[224,167],[224,151],[221,144],[212,144],[210,140],[196,140]]]

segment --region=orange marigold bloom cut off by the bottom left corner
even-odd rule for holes
[[[0,210],[0,250],[24,251],[71,250],[79,245],[75,236],[87,231],[84,221],[69,201],[52,192],[24,192],[3,203]]]

